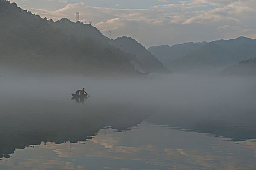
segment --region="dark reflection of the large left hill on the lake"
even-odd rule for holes
[[[87,136],[94,136],[105,126],[127,130],[146,117],[145,112],[131,105],[86,105],[88,101],[80,105],[71,100],[63,103],[47,100],[1,101],[6,107],[0,109],[0,157],[9,157],[15,149],[41,141],[85,141]],[[13,102],[18,103],[11,106]]]

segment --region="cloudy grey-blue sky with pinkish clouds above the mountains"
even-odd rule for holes
[[[10,0],[55,21],[66,17],[111,38],[128,36],[146,48],[184,42],[256,38],[256,0]]]

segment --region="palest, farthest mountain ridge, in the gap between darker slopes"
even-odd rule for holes
[[[156,47],[153,46],[148,48],[148,51],[150,51],[153,55],[155,55],[163,63],[164,66],[170,68],[170,64],[174,60],[182,58],[185,55],[198,50],[206,43],[207,42],[202,42],[202,43],[191,42],[191,43],[173,45],[172,47],[168,45],[162,45],[162,46],[156,46]]]

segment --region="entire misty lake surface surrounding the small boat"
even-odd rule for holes
[[[252,169],[255,86],[185,74],[2,76],[0,167]],[[90,97],[71,100],[83,87]]]

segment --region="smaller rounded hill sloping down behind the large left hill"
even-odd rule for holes
[[[168,72],[168,69],[165,68],[154,55],[131,37],[118,37],[117,39],[112,40],[111,44],[122,51],[135,54],[142,67],[145,68],[147,72]]]

